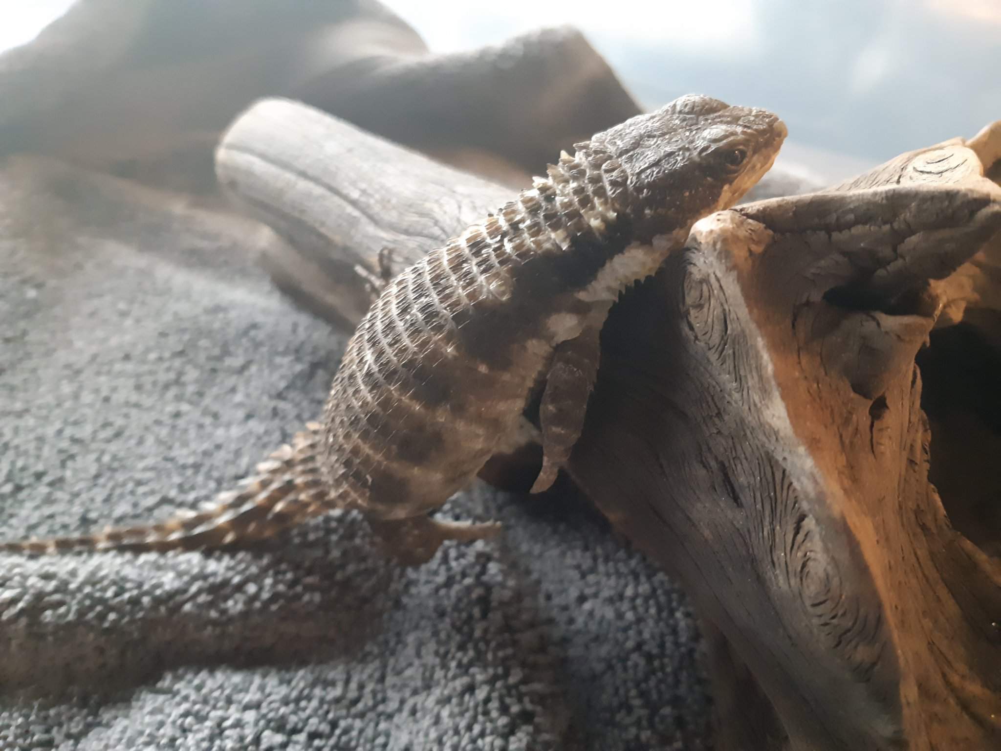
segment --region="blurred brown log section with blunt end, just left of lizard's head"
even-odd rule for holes
[[[452,54],[383,49],[351,73],[314,77],[295,96],[393,141],[438,154],[463,146],[530,172],[543,169],[555,149],[640,112],[571,27]]]

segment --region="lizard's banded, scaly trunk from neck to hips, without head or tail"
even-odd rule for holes
[[[622,165],[566,153],[532,189],[392,280],[362,319],[324,415],[325,466],[382,519],[426,512],[519,431],[577,292],[632,239]]]

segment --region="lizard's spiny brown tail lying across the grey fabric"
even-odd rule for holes
[[[269,538],[334,508],[319,467],[322,430],[306,430],[283,446],[239,490],[220,494],[205,511],[181,514],[145,527],[109,529],[88,537],[0,543],[0,553],[66,551],[170,551],[226,548]]]

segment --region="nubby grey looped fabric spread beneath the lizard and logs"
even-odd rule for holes
[[[211,500],[320,412],[344,336],[249,224],[0,171],[0,532]],[[0,556],[0,749],[699,749],[693,616],[586,502],[478,485],[500,539],[399,570],[331,515],[252,551]]]

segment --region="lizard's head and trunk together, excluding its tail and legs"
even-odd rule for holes
[[[764,110],[682,97],[577,144],[547,178],[403,271],[334,378],[331,486],[376,519],[440,506],[510,445],[554,347],[589,316],[604,319],[695,221],[743,195],[784,137]]]

